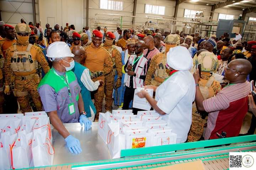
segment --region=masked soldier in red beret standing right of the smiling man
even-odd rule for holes
[[[113,45],[115,35],[112,32],[107,32],[106,39],[104,44],[102,43],[101,46],[105,48],[112,56],[113,59],[113,70],[105,75],[105,109],[106,111],[112,110],[112,103],[113,103],[113,85],[114,85],[114,76],[117,72],[117,84],[115,88],[121,86],[122,84],[122,58],[120,52],[116,49]]]

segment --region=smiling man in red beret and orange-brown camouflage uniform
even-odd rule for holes
[[[98,120],[99,112],[102,111],[102,102],[105,88],[105,75],[110,73],[113,69],[113,60],[110,53],[101,46],[102,33],[94,30],[92,43],[85,48],[84,66],[89,68],[92,72],[92,81],[103,80],[102,86],[94,94],[94,105],[97,111],[95,120]],[[113,86],[112,86],[113,88]]]

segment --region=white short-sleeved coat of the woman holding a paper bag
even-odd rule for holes
[[[195,95],[195,81],[188,70],[174,73],[156,89],[157,106],[166,113],[160,116],[171,127],[172,132],[177,134],[177,143],[187,140]]]

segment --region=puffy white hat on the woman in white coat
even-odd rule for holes
[[[177,46],[167,52],[167,64],[175,70],[185,71],[191,69],[193,60],[186,47]]]

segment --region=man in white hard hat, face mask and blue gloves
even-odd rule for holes
[[[53,42],[47,50],[47,57],[52,60],[52,69],[38,85],[44,110],[48,113],[55,129],[65,138],[71,153],[81,153],[78,139],[66,130],[63,123],[80,122],[86,130],[91,128],[91,121],[86,117],[81,88],[71,69],[75,66],[69,46],[62,41]]]

